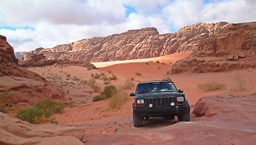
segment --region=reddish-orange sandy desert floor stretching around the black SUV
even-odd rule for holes
[[[132,133],[146,133],[143,134],[143,138],[150,138],[152,141],[162,140],[166,137],[163,134],[155,133],[158,130],[165,130],[172,127],[173,124],[181,125],[177,123],[177,118],[174,121],[165,121],[162,119],[152,119],[146,121],[144,128],[134,128],[132,123],[132,109],[131,103],[133,98],[129,97],[128,101],[119,109],[110,109],[108,107],[108,100],[100,102],[92,102],[92,98],[99,93],[92,92],[91,88],[87,86],[84,81],[88,81],[91,78],[92,73],[104,73],[110,77],[111,74],[117,76],[117,80],[111,81],[110,84],[115,86],[122,85],[127,78],[133,78],[134,83],[145,80],[161,80],[165,78],[166,72],[170,70],[173,62],[187,57],[189,53],[178,53],[165,57],[157,57],[152,59],[132,60],[131,62],[119,61],[119,62],[99,62],[95,63],[100,67],[97,70],[87,70],[84,67],[68,66],[68,67],[33,67],[30,68],[33,72],[38,72],[42,76],[54,82],[57,86],[63,87],[69,94],[69,98],[74,100],[72,106],[66,107],[63,114],[55,115],[59,124],[69,124],[71,126],[83,128],[84,132],[88,134],[87,141],[92,144],[95,137],[105,139],[109,135],[115,134],[116,138],[125,138],[123,135]],[[156,62],[159,61],[159,62]],[[127,63],[128,62],[128,63]],[[136,75],[136,73],[141,75]],[[243,78],[246,87],[244,91],[235,91],[234,88],[238,84],[238,80],[234,77],[240,76]],[[177,75],[171,75],[177,84],[178,88],[182,88],[186,93],[187,99],[191,103],[193,108],[195,102],[200,97],[207,95],[218,94],[235,94],[246,95],[255,92],[256,89],[256,70],[248,69],[235,72],[218,72],[218,73],[183,73]],[[223,90],[202,92],[197,88],[198,83],[217,81],[226,85]],[[105,86],[104,81],[96,79],[96,84],[101,88]],[[134,89],[125,90],[125,92],[134,92]],[[192,116],[192,122],[195,119]],[[177,128],[172,127],[172,128]],[[104,135],[101,136],[101,135]],[[132,137],[140,140],[140,138]],[[166,137],[170,139],[172,137]],[[112,138],[113,139],[113,138]],[[118,139],[116,139],[118,140]],[[85,142],[85,141],[84,141]],[[112,142],[111,142],[112,143]]]

